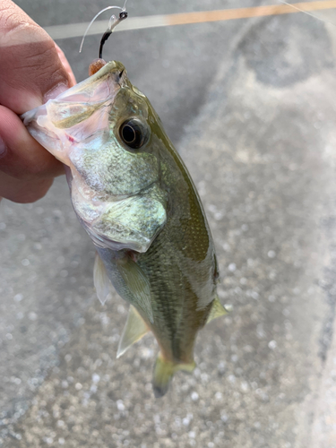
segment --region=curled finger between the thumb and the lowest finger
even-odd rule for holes
[[[34,140],[12,110],[0,106],[0,169],[11,177],[31,180],[64,174],[61,162]],[[0,189],[0,195],[2,194]]]

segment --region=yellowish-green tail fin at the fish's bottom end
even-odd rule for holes
[[[169,383],[173,377],[173,375],[178,370],[183,370],[185,372],[193,372],[195,367],[194,361],[189,364],[178,364],[172,361],[167,361],[164,359],[161,354],[156,360],[156,364],[154,366],[154,375],[153,375],[153,391],[156,398],[163,397],[168,391]]]

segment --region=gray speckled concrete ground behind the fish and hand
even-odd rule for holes
[[[21,0],[41,25],[105,2]],[[129,2],[134,15],[268,2]],[[60,40],[79,80],[98,38]],[[119,33],[199,188],[234,311],[197,341],[193,375],[151,392],[156,342],[116,360],[126,306],[95,297],[93,246],[65,178],[0,206],[0,445],[336,446],[336,31],[303,14]],[[108,58],[108,57],[107,57]]]

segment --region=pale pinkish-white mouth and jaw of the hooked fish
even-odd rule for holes
[[[47,151],[70,166],[73,146],[108,128],[107,108],[127,83],[125,66],[108,62],[99,72],[56,99],[24,113],[23,124]]]

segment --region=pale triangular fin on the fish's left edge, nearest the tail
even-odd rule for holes
[[[136,341],[141,340],[142,336],[148,332],[148,327],[144,323],[142,316],[136,311],[134,306],[130,306],[127,321],[121,339],[119,341],[116,358],[124,355],[125,351],[131,347]]]

